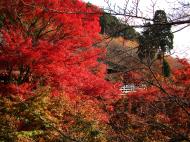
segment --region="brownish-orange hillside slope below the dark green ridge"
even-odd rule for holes
[[[107,53],[104,63],[108,65],[108,80],[121,80],[122,74],[131,71],[145,71],[147,65],[138,58],[138,42],[135,40],[125,40],[123,37],[116,37],[102,43],[106,46]],[[180,68],[182,65],[172,56],[166,56],[171,70]],[[152,64],[154,72],[162,74],[162,60],[155,60]],[[145,71],[146,74],[149,74]]]

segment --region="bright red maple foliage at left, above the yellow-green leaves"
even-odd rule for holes
[[[101,40],[97,7],[79,0],[11,2],[0,3],[5,16],[0,71],[8,76],[1,88],[28,84],[27,91],[32,91],[49,85],[54,95],[64,90],[70,95],[115,97],[117,89],[104,80],[105,65],[97,61],[105,51],[93,47]]]

